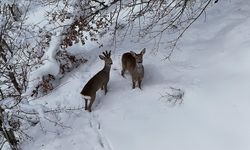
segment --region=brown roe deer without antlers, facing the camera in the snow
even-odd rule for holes
[[[136,54],[133,51],[124,53],[122,55],[122,71],[121,75],[124,77],[126,70],[132,76],[133,89],[135,88],[135,82],[138,81],[138,86],[141,89],[141,82],[144,77],[144,67],[142,65],[143,55],[146,52],[146,48],[142,49],[139,54]]]

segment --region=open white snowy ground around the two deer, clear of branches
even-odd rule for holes
[[[23,149],[250,149],[250,1],[219,1],[206,15],[188,30],[171,61],[162,61],[164,48],[150,53],[152,43],[117,45],[109,92],[98,92],[93,112],[61,114],[63,126],[30,130],[34,140]],[[132,90],[130,76],[120,75],[121,55],[144,47],[143,89]],[[90,61],[37,101],[52,108],[83,106],[82,87],[103,67],[99,49],[87,49]],[[162,97],[170,87],[185,91],[181,105]]]

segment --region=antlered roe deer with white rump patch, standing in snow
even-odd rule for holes
[[[108,91],[107,84],[109,82],[110,68],[113,63],[110,56],[111,51],[105,51],[103,52],[103,55],[99,55],[100,59],[105,61],[104,68],[99,71],[95,76],[93,76],[81,91],[81,94],[84,96],[85,100],[85,110],[88,110],[89,112],[91,112],[91,106],[95,101],[96,92],[99,89],[104,89],[106,95]],[[90,101],[89,105],[88,101]]]

